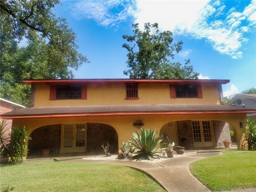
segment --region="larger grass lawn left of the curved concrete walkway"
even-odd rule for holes
[[[1,191],[14,192],[165,192],[148,176],[110,164],[38,161],[0,166]]]

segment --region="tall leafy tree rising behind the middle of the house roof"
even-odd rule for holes
[[[125,75],[139,79],[197,79],[198,73],[189,66],[190,60],[170,62],[174,52],[182,50],[182,42],[173,43],[172,32],[159,32],[158,24],[145,23],[144,31],[138,24],[132,24],[134,35],[124,35],[128,43],[123,47],[128,50],[128,70]]]

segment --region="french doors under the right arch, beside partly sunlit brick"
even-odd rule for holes
[[[213,147],[211,121],[192,121],[194,147]]]

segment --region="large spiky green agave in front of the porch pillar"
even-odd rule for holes
[[[162,141],[162,136],[156,138],[156,130],[143,129],[141,128],[141,134],[136,131],[133,133],[134,137],[132,141],[128,141],[130,146],[138,149],[138,151],[133,152],[131,158],[136,158],[139,160],[148,159],[153,160],[153,156],[165,148],[161,148],[160,142]]]

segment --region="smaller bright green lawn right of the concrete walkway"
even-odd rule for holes
[[[225,150],[192,162],[192,174],[212,191],[256,188],[256,151]]]

